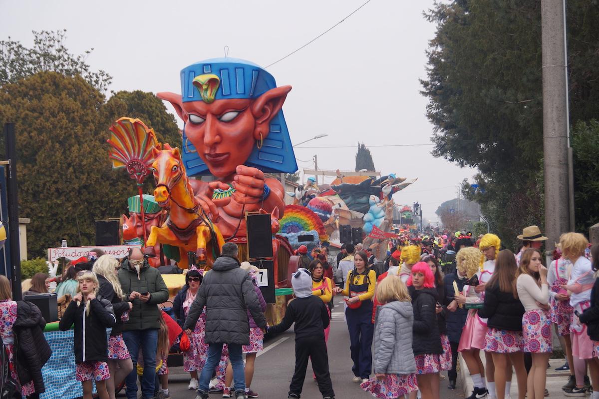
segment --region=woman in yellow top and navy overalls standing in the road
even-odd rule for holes
[[[366,267],[368,255],[364,251],[356,253],[353,257],[354,269],[347,273],[345,288],[334,288],[335,294],[349,297],[346,300],[347,309],[345,318],[349,330],[349,349],[353,361],[353,382],[365,382],[372,371],[373,356],[371,346],[373,343],[374,325],[372,312],[374,286],[376,285],[376,272]]]

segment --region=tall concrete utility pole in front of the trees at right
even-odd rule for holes
[[[565,46],[565,0],[541,0],[543,65],[543,167],[546,250],[570,231],[573,197],[568,170],[568,80]]]

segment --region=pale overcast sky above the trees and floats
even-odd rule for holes
[[[72,53],[93,47],[87,62],[113,76],[110,90],[179,93],[180,69],[224,56],[225,46],[230,57],[269,65],[364,1],[0,0],[0,40],[10,36],[31,47],[32,30],[66,28]],[[314,155],[320,169],[353,170],[357,144],[364,142],[383,174],[418,177],[394,200],[419,201],[425,223],[436,220],[438,205],[455,198],[461,180],[475,173],[434,158],[431,145],[392,147],[431,144],[418,80],[426,78],[425,50],[435,32],[422,16],[431,6],[432,0],[371,0],[268,68],[277,84],[293,86],[283,105],[292,142],[328,134],[295,149],[300,171],[313,168]]]

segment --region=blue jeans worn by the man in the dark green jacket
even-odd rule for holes
[[[158,350],[158,329],[123,331],[123,340],[131,361],[133,371],[125,377],[127,399],[137,399],[137,359],[140,348],[144,356],[144,374],[141,377],[141,393],[145,398],[154,397],[156,378],[156,350]]]

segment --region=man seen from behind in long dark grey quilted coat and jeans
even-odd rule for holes
[[[256,325],[266,328],[266,319],[262,313],[258,295],[254,291],[252,279],[247,271],[241,269],[237,260],[237,245],[223,245],[220,258],[217,258],[208,271],[183,325],[190,335],[199,316],[206,307],[206,334],[208,359],[198,382],[196,399],[208,398],[208,384],[220,361],[223,343],[229,347],[229,358],[233,366],[235,380],[235,398],[246,398],[246,378],[244,375],[241,346],[250,343],[250,325],[247,310],[250,311]]]

